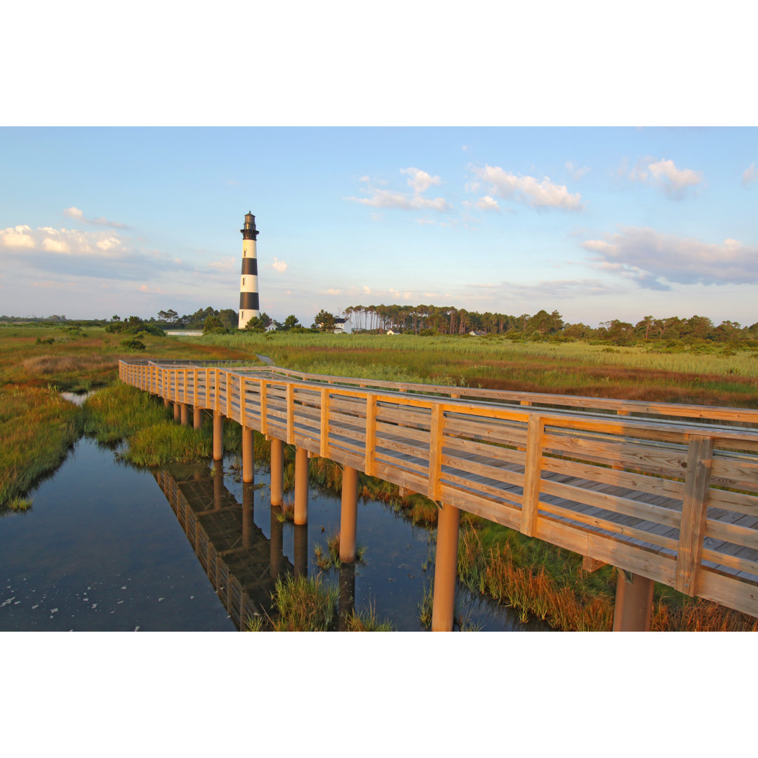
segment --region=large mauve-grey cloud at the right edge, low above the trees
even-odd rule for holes
[[[670,283],[758,283],[758,246],[738,240],[705,243],[625,227],[605,240],[586,240],[597,268],[634,280],[640,287],[669,290]]]

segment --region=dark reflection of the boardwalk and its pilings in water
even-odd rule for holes
[[[243,486],[238,503],[224,487],[220,464],[215,462],[212,475],[177,468],[154,476],[216,594],[236,628],[244,629],[249,617],[271,613],[274,581],[296,568],[283,555],[280,522],[272,517],[269,540],[253,521],[254,487]],[[307,572],[307,527],[295,535],[297,570]]]

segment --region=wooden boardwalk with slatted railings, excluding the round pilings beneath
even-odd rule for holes
[[[119,365],[155,395],[758,616],[758,411]]]

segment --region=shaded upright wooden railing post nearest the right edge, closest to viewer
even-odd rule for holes
[[[697,574],[706,530],[706,499],[713,462],[713,438],[692,437],[684,478],[681,531],[674,587],[691,597],[697,589]]]

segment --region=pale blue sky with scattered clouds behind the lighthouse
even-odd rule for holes
[[[0,129],[0,312],[390,302],[758,321],[758,130]]]

